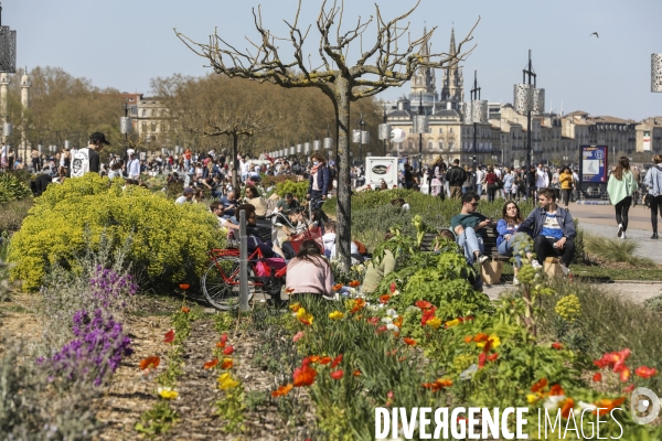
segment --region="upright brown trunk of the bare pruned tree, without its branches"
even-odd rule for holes
[[[335,120],[338,128],[338,247],[342,270],[349,272],[352,266],[352,202],[350,198],[350,94],[351,86],[345,78],[335,80]]]

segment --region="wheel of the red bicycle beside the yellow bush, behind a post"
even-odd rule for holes
[[[248,279],[255,277],[248,267]],[[239,259],[221,256],[214,259],[200,279],[202,292],[214,308],[228,311],[239,306]],[[248,280],[248,301],[253,300],[255,284]]]

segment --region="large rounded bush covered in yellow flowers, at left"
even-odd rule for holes
[[[74,267],[87,241],[95,249],[106,235],[113,249],[129,241],[127,261],[142,286],[196,280],[206,251],[225,244],[215,216],[202,204],[174,205],[147,189],[121,186],[95,173],[50,185],[12,237],[12,279],[36,290],[50,266]]]

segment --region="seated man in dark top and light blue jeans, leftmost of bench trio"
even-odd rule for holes
[[[484,250],[484,228],[494,225],[492,219],[488,219],[476,212],[478,200],[479,196],[476,193],[465,193],[462,195],[462,211],[450,219],[450,227],[458,237],[458,245],[465,251],[469,265],[473,265],[476,260],[482,265],[488,260],[488,256],[482,254]]]

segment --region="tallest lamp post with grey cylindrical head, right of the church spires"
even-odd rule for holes
[[[531,115],[541,115],[545,109],[545,89],[537,89],[536,74],[531,63],[531,50],[528,50],[528,64],[522,71],[522,84],[515,84],[513,104],[517,114],[526,114],[526,190],[527,196],[531,195],[531,165],[533,163],[531,135]],[[533,79],[533,84],[532,84]]]

